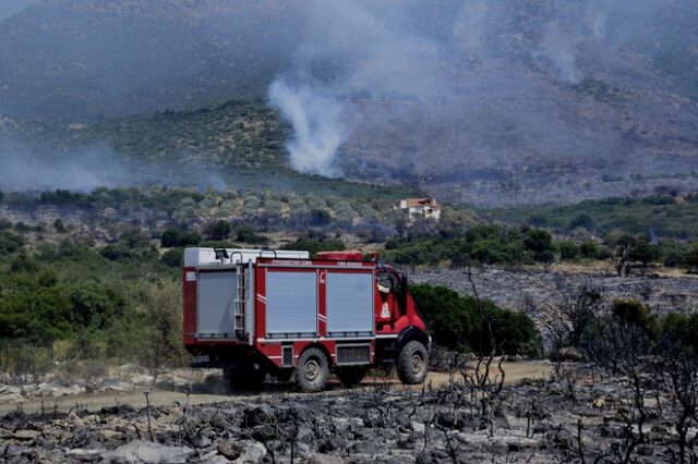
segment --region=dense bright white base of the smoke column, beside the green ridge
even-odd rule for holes
[[[272,106],[293,126],[293,136],[286,145],[293,169],[339,175],[335,154],[346,134],[340,121],[341,102],[326,89],[290,85],[282,77],[272,84],[268,97]]]

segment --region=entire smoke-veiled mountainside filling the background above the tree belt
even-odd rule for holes
[[[39,0],[0,23],[0,155],[19,131],[24,151],[167,160],[148,182],[296,170],[485,207],[688,192],[697,22],[684,0]]]

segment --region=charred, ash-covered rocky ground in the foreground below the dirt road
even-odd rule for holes
[[[492,379],[500,379],[492,367]],[[464,373],[445,375],[440,386],[400,390],[374,382],[196,406],[184,400],[149,408],[14,412],[0,420],[0,461],[547,463],[583,455],[615,462],[614,453],[627,447],[633,406],[623,379],[557,366],[549,379],[500,390],[496,381],[474,388],[472,369]],[[650,416],[643,443],[630,451],[635,462],[671,461],[674,414],[664,404],[661,418]]]

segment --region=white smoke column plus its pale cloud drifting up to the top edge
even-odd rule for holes
[[[366,122],[357,100],[410,101],[432,105],[453,94],[443,78],[440,44],[412,27],[410,8],[366,0],[306,7],[303,39],[293,69],[277,76],[269,103],[293,127],[287,143],[291,166],[302,172],[341,174],[337,154],[356,129]]]

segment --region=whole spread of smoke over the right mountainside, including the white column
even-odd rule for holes
[[[653,117],[642,102],[605,107],[603,91],[683,91],[662,81],[652,60],[657,44],[673,44],[665,36],[672,24],[698,17],[689,0],[296,8],[292,65],[268,90],[293,129],[292,166],[339,175],[354,164],[387,178],[454,181],[491,181],[541,159],[553,175],[564,163],[615,171],[651,156],[614,127],[651,126]]]

